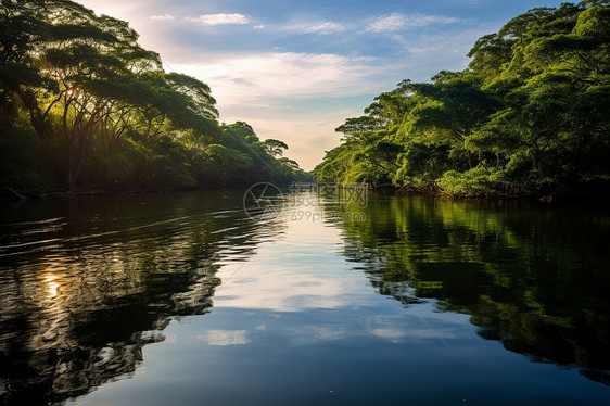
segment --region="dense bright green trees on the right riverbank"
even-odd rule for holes
[[[315,178],[469,196],[608,188],[609,4],[530,10],[480,38],[463,72],[402,81],[336,129]]]

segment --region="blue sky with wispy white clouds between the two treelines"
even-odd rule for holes
[[[281,139],[310,170],[334,128],[401,80],[461,71],[474,41],[556,0],[77,0],[128,21],[167,72],[212,88],[223,123]]]

